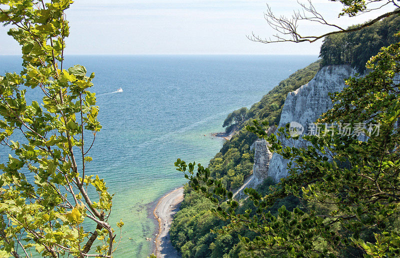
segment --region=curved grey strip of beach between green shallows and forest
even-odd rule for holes
[[[173,215],[183,200],[183,186],[176,188],[159,198],[153,210],[158,221],[158,233],[154,239],[154,254],[157,257],[180,257],[169,238],[169,228]]]

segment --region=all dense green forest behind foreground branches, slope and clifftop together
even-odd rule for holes
[[[381,46],[396,41],[392,35],[398,29],[400,29],[400,17],[393,16],[359,31],[326,37],[321,46],[322,60],[291,74],[265,94],[259,102],[253,104],[250,109],[241,108],[228,115],[224,121],[226,131],[229,131],[234,125],[237,126],[238,132],[229,141],[226,141],[221,150],[210,160],[208,165],[210,176],[220,180],[226,189],[233,190],[240,186],[251,173],[253,153],[250,151],[250,145],[257,138],[253,132],[244,128],[250,124],[249,121],[257,119],[267,121],[269,124],[278,123],[287,93],[307,83],[321,66],[346,63],[362,71],[365,62],[370,56],[376,54]],[[272,184],[270,179],[266,179],[258,186],[257,190],[259,193],[265,194],[269,190],[268,186]],[[295,206],[301,207],[301,205],[325,214],[332,210],[329,205],[315,205],[306,202],[300,205],[298,198],[293,196],[278,200],[272,208],[267,210],[276,215],[282,211],[277,209],[282,204],[287,210],[293,210]],[[228,223],[216,218],[210,211],[210,206],[212,203],[209,199],[201,197],[186,185],[184,201],[181,209],[176,213],[170,230],[172,244],[183,257],[237,257],[239,253],[244,253],[243,242],[237,236],[239,234],[241,237],[253,239],[254,233],[241,229],[228,233],[221,230],[222,226]],[[236,213],[243,213],[248,209],[249,217],[251,217],[255,214],[251,207],[253,207],[251,200],[240,200]],[[222,209],[224,208],[226,207],[222,205]],[[366,230],[362,234],[365,239],[372,239],[373,232],[373,230]],[[322,250],[324,246],[321,244],[317,248]],[[343,248],[341,254],[344,256],[362,255],[358,249],[352,246]]]

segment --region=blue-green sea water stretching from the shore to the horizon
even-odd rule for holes
[[[114,192],[110,221],[122,218],[115,257],[145,257],[154,221],[148,204],[185,179],[176,158],[207,164],[223,139],[226,115],[250,107],[315,55],[132,55],[68,56],[64,67],[82,64],[95,72],[102,125],[87,173],[104,178]],[[0,75],[20,70],[18,56],[0,56]],[[123,92],[115,92],[121,87]],[[34,97],[33,97],[34,98]],[[206,136],[204,136],[206,134]],[[8,149],[0,148],[0,158]]]

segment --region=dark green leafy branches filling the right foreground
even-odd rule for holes
[[[228,221],[220,233],[243,228],[255,232],[251,239],[239,236],[253,256],[400,255],[399,61],[400,43],[381,48],[366,65],[371,72],[347,79],[348,86],[332,95],[333,108],[319,120],[380,124],[379,132],[364,131],[366,141],[344,135],[335,126],[303,136],[306,144],[296,148],[282,143],[282,137],[291,138],[288,127],[269,135],[266,122],[254,120],[246,127],[265,138],[269,150],[290,160],[289,176],[271,186],[267,195],[244,190],[254,204],[253,216],[250,209],[235,212],[238,202],[232,192],[210,178],[208,168],[197,164],[195,172],[194,162],[178,159],[175,166],[193,190],[210,199],[212,212]],[[293,210],[281,206],[272,214],[273,205],[287,196],[298,198],[300,205]]]

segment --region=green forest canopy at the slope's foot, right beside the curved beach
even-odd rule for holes
[[[257,189],[266,192],[271,184],[272,179],[266,179]],[[171,242],[182,257],[222,257],[223,254],[237,257],[242,251],[242,247],[237,246],[237,233],[219,233],[218,230],[227,223],[211,213],[212,203],[194,192],[187,184],[184,189],[184,200],[173,218],[169,231]],[[250,201],[245,201],[240,210],[244,212],[251,205]],[[244,230],[240,230],[239,233],[252,236],[252,233]]]

